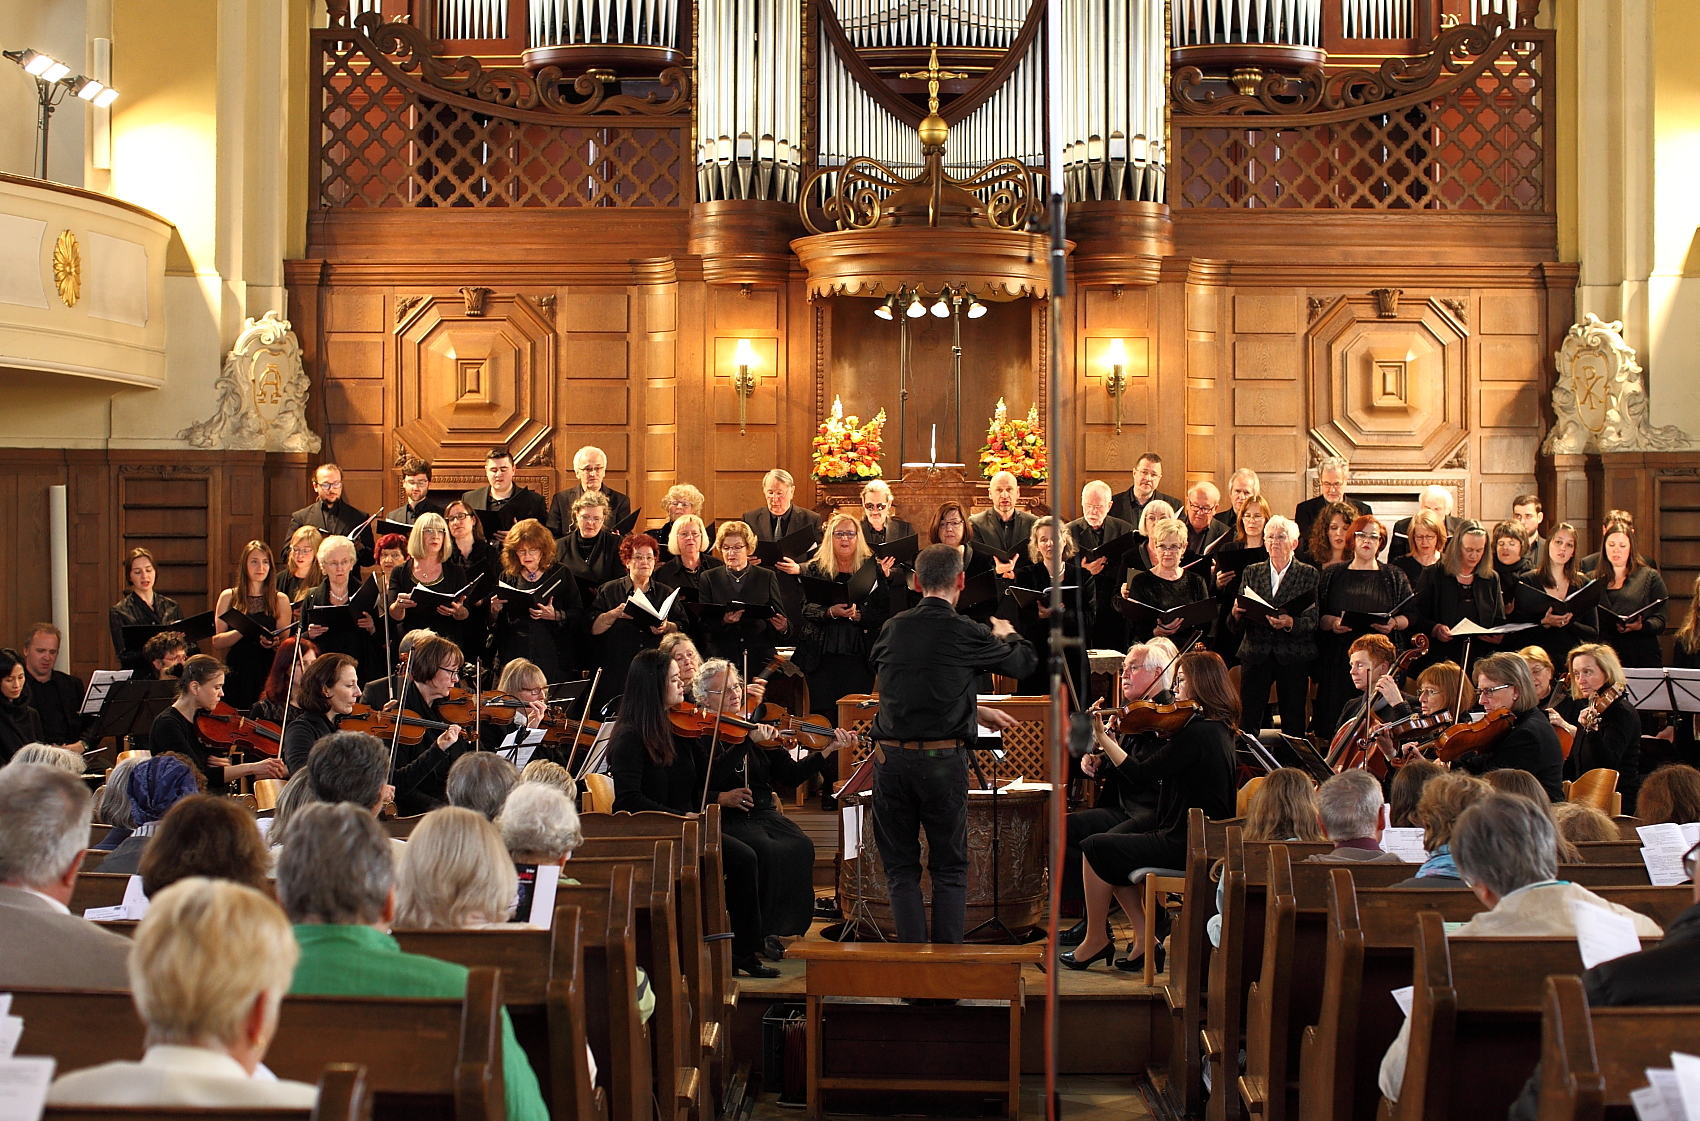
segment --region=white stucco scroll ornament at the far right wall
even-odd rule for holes
[[[1624,342],[1624,325],[1590,311],[1564,335],[1552,386],[1557,424],[1540,451],[1578,456],[1601,451],[1671,451],[1693,441],[1676,425],[1647,422],[1647,388],[1635,349]]]

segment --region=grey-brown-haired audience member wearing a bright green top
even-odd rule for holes
[[[362,806],[313,805],[296,815],[277,861],[277,898],[296,929],[301,961],[291,993],[342,997],[466,995],[466,966],[405,954],[389,936],[396,868],[389,839]],[[502,1077],[508,1121],[547,1121],[530,1060],[502,1012]]]

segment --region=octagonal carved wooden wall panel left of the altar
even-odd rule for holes
[[[428,296],[396,327],[400,435],[439,466],[481,468],[503,444],[518,466],[554,430],[554,327],[522,296]],[[476,485],[476,483],[474,483]]]

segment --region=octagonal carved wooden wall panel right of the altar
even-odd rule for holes
[[[1345,296],[1311,325],[1311,429],[1362,468],[1438,468],[1467,432],[1464,330],[1436,301]]]

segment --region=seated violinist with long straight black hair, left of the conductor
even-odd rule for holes
[[[743,522],[738,522],[740,526]],[[724,532],[724,527],[722,527]],[[683,703],[685,686],[678,663],[660,650],[632,658],[620,697],[620,716],[609,742],[609,772],[614,777],[615,813],[702,811],[702,754],[706,743],[678,735],[666,709]],[[753,799],[751,799],[753,801]],[[724,810],[748,808],[743,791],[722,791]],[[733,970],[750,976],[779,976],[762,965],[762,888],[755,849],[733,835],[721,835],[726,866],[726,915],[733,927]]]

